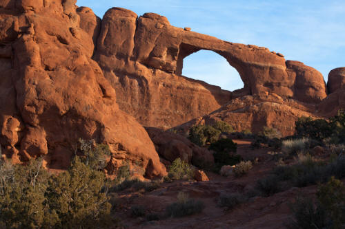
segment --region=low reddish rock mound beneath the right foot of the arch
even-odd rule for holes
[[[190,120],[175,130],[186,133],[195,124],[213,124],[222,120],[231,124],[236,131],[258,133],[263,127],[277,129],[282,135],[295,132],[295,121],[302,116],[317,118],[313,113],[315,105],[283,99],[277,94],[243,96],[236,98],[212,113]]]

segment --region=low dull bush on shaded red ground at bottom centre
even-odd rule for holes
[[[189,199],[188,195],[179,193],[177,202],[166,207],[168,217],[184,217],[202,212],[205,205],[201,201]]]

